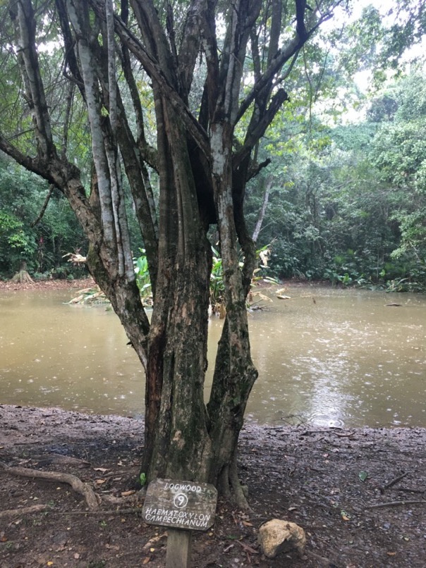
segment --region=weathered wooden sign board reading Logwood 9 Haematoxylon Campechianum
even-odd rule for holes
[[[217,490],[209,483],[156,479],[148,486],[142,517],[148,524],[207,531],[216,505]]]

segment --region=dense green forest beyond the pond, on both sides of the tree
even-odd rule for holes
[[[303,48],[286,82],[289,99],[256,149],[269,166],[247,189],[248,226],[270,252],[264,276],[425,290],[425,75],[415,56],[400,61],[422,29],[414,12],[403,16],[405,35],[370,6],[328,38],[327,50],[320,41]],[[354,78],[363,73],[360,85]],[[78,128],[88,176],[87,125]],[[158,196],[154,171],[151,179]],[[126,192],[136,263],[144,244]],[[65,197],[1,154],[0,278],[23,267],[32,278],[79,278],[85,267],[66,255],[86,251]]]

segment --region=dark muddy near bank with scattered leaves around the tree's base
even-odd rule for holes
[[[252,513],[219,501],[212,529],[195,535],[193,567],[423,567],[425,443],[424,428],[245,424],[239,474]],[[140,500],[126,502],[142,445],[140,419],[0,405],[1,464],[73,474],[102,499],[88,512],[67,483],[0,469],[0,509],[9,511],[0,517],[0,565],[163,567],[164,529],[142,521]],[[272,518],[305,529],[302,558],[262,557],[257,529]]]

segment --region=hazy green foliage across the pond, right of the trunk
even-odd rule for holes
[[[424,85],[417,74],[389,83],[367,121],[334,128],[310,121],[315,130],[305,134],[299,117],[291,144],[282,132],[269,137],[273,182],[259,244],[274,241],[275,276],[425,288]],[[312,136],[327,142],[311,144]],[[249,186],[250,226],[264,183]]]

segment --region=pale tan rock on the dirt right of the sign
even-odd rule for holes
[[[305,531],[300,526],[280,519],[272,519],[262,524],[258,540],[267,558],[275,558],[281,552],[288,552],[293,548],[302,555],[306,544]]]

